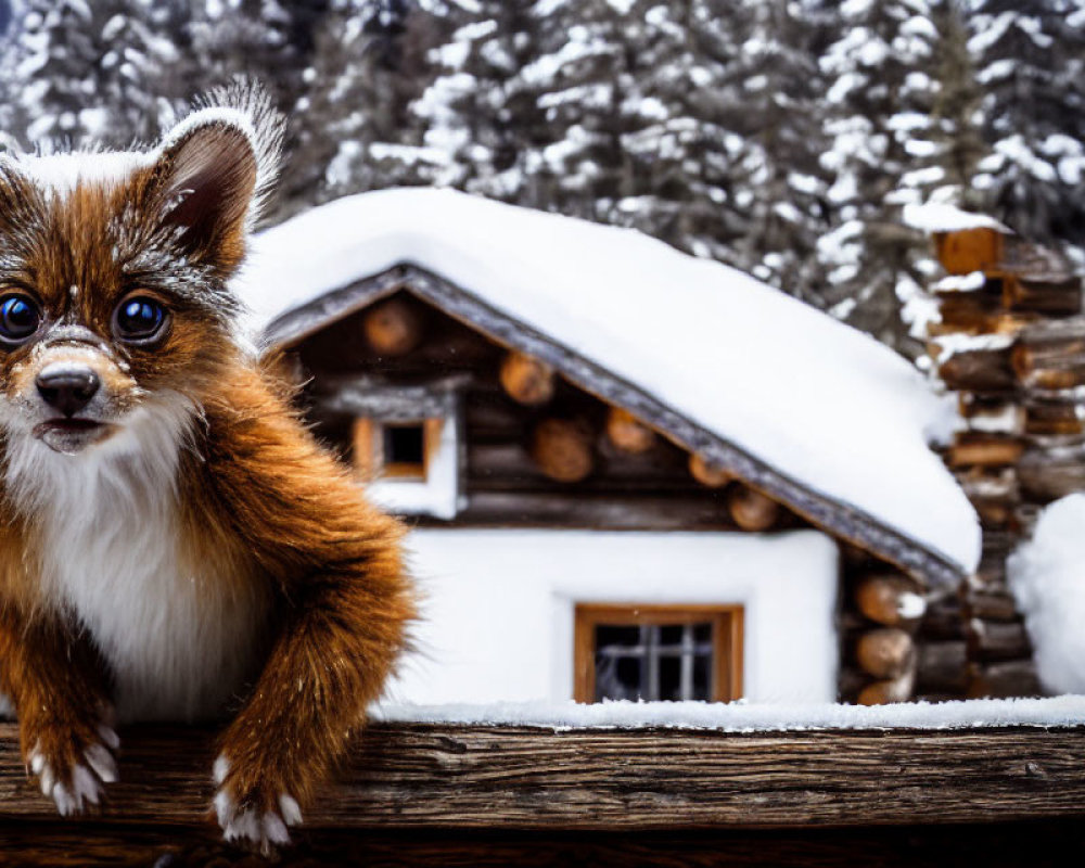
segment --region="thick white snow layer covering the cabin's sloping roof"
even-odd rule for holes
[[[669,421],[680,421],[676,438],[739,462],[816,523],[853,537],[859,527],[875,551],[904,540],[895,560],[935,580],[974,569],[975,513],[928,448],[953,408],[912,366],[740,271],[640,232],[450,190],[363,193],[258,235],[237,289],[252,326],[284,343],[356,309],[329,301],[336,291],[403,264],[446,281],[457,304],[551,342],[570,379],[584,365],[566,356],[610,372],[621,395],[667,408]],[[511,334],[493,336],[513,343]],[[801,492],[824,500],[805,503]],[[912,549],[939,559],[941,575],[909,561]]]

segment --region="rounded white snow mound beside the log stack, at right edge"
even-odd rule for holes
[[[1047,507],[1007,577],[1035,648],[1044,686],[1085,692],[1085,494]]]

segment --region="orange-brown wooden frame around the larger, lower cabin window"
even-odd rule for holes
[[[595,702],[595,631],[605,626],[712,624],[712,702],[742,697],[744,607],[684,603],[576,603],[573,628],[573,698]]]

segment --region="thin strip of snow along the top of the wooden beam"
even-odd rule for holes
[[[965,729],[999,726],[1067,727],[1085,724],[1085,697],[902,702],[894,705],[745,702],[499,702],[487,705],[382,703],[381,720],[548,729],[715,729],[784,732],[807,729]]]

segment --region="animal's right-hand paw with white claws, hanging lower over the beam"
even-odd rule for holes
[[[241,776],[231,774],[226,754],[215,761],[214,776],[215,814],[227,841],[257,846],[265,855],[290,843],[288,827],[302,822],[302,809],[292,795],[260,784],[241,787]]]

